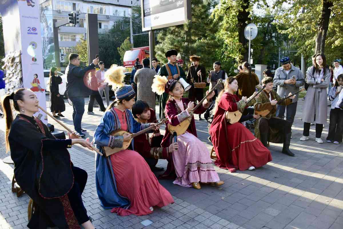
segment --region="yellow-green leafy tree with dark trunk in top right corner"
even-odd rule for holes
[[[314,53],[322,51],[327,62],[342,57],[343,2],[332,0],[277,0],[275,7],[282,11],[275,24],[281,33],[288,34],[292,47],[303,54],[308,64]],[[287,4],[288,3],[288,4]]]

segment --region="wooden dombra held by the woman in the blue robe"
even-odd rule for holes
[[[168,119],[165,118],[165,119],[163,119],[161,122],[156,123],[156,126],[159,126],[159,125],[161,125],[161,124],[164,124],[164,123],[166,123],[167,121],[168,121]],[[131,134],[131,133],[129,133],[129,132],[125,131],[125,130],[121,130],[121,129],[118,129],[118,130],[113,131],[112,133],[110,133],[110,135],[113,136],[113,137],[116,137],[116,136],[123,136],[123,134],[125,134],[125,133],[131,134],[130,140],[129,140],[129,141],[124,141],[124,142],[123,142],[123,147],[121,147],[121,148],[103,146],[102,148],[103,148],[103,152],[104,152],[105,156],[108,157],[108,156],[110,156],[110,155],[112,155],[112,154],[114,154],[114,153],[117,153],[117,152],[121,151],[121,150],[127,149],[127,148],[130,146],[131,141],[132,141],[132,139],[133,139],[134,137],[136,137],[136,136],[138,136],[138,135],[141,135],[141,134],[144,134],[144,133],[146,133],[147,131],[153,129],[154,127],[155,127],[155,126],[150,126],[150,127],[148,127],[148,128],[145,128],[145,129],[143,129],[143,130],[141,130],[141,131],[135,133],[135,134]]]

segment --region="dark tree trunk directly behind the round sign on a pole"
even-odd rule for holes
[[[251,21],[250,12],[248,11],[250,0],[243,0],[242,9],[238,11],[238,41],[243,45],[240,50],[241,56],[238,57],[238,61],[248,61],[249,58],[249,47],[248,40],[244,37],[244,29],[247,26],[247,21]]]

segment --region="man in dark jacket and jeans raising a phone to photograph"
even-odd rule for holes
[[[93,60],[92,64],[88,67],[81,69],[80,57],[78,54],[69,54],[69,65],[66,69],[67,74],[67,95],[73,103],[73,123],[75,131],[80,137],[84,137],[86,130],[81,128],[82,116],[85,111],[84,96],[90,94],[90,90],[87,88],[87,79],[84,79],[87,71],[95,68],[99,63],[99,58]]]

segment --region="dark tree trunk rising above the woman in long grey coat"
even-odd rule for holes
[[[329,28],[329,20],[333,0],[323,0],[322,15],[317,28],[315,54],[324,53],[326,34]]]

